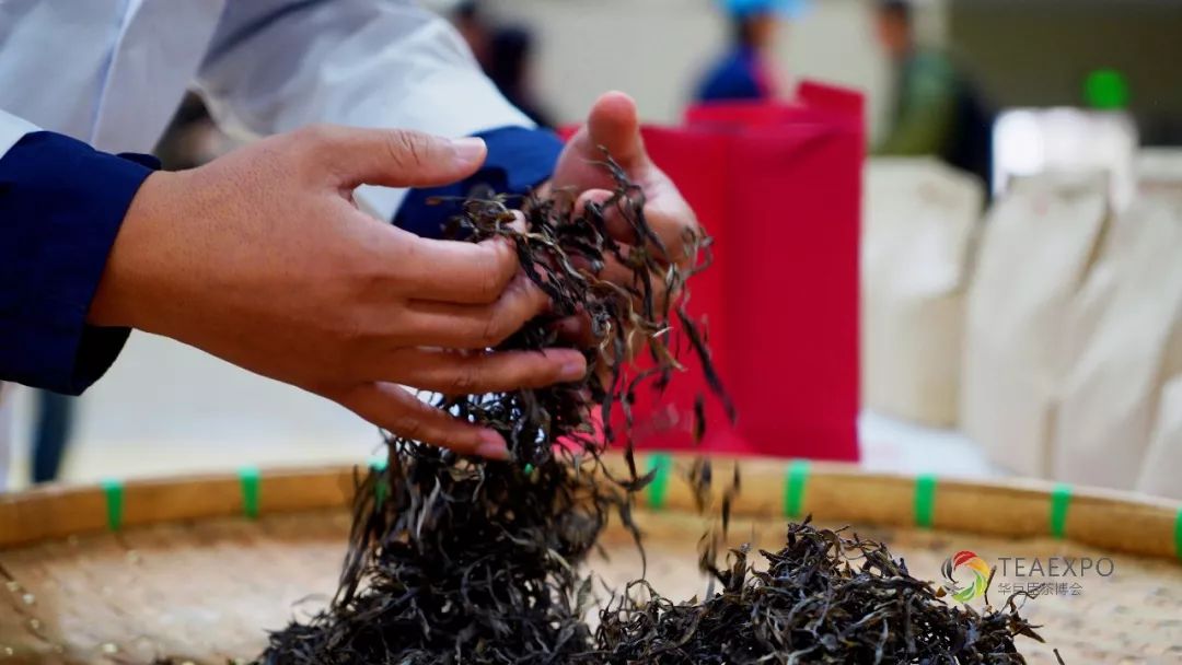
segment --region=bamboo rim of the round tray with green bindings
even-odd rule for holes
[[[637,454],[637,465],[671,475],[673,469],[688,467],[696,457],[644,452]],[[606,459],[609,467],[623,468],[619,455]],[[877,472],[834,462],[727,456],[712,456],[712,461],[715,477],[721,477],[726,465],[741,467],[742,491],[732,509],[738,516],[800,519],[812,514],[818,520],[870,526],[1011,537],[1050,535],[1182,561],[1182,502],[1163,497],[1035,478],[981,481]],[[51,484],[0,495],[0,550],[125,527],[343,508],[351,500],[355,474],[364,467],[246,468],[236,474]],[[673,483],[661,496],[652,485],[638,496],[641,506],[693,509],[686,483]],[[847,494],[863,494],[869,500],[843,501]],[[982,523],[982,511],[995,519]]]

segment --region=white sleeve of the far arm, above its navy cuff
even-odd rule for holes
[[[239,137],[317,122],[449,137],[534,126],[460,34],[410,0],[230,2],[197,85]],[[358,193],[389,220],[405,190]]]

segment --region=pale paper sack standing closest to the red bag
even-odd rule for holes
[[[876,158],[862,232],[862,399],[956,423],[965,293],[985,188],[936,159]]]

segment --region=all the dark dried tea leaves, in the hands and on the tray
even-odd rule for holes
[[[610,157],[603,167],[617,182],[603,204],[577,210],[563,191],[531,198],[522,227],[504,200],[483,197],[460,203],[453,224],[456,237],[513,242],[525,274],[553,302],[551,314],[498,348],[574,346],[559,339],[554,324],[579,314],[593,333],[577,346],[589,361],[586,377],[435,398],[504,435],[508,462],[390,437],[385,465],[357,478],[336,596],[310,620],[273,633],[260,663],[1021,663],[1013,638],[1037,634],[1013,599],[1005,611],[985,614],[949,607],[885,547],[807,524],[790,528],[782,550],[764,553],[771,562],[764,572],[748,563],[746,550],[717,568],[721,540],[708,536],[702,566],[719,593],[677,605],[639,580],[603,607],[591,631],[585,619],[596,599],[580,563],[609,519],[631,529],[637,543],[641,537],[631,497],[651,477],[636,471],[631,454],[637,391],[667,386],[686,352],[733,417],[704,327],[683,309],[686,280],[709,263],[709,240],[686,237],[686,255],[669,256],[645,222],[639,188]],[[634,242],[615,240],[609,217],[626,222]],[[598,279],[608,262],[630,269],[632,283]],[[645,363],[625,363],[634,354]],[[598,430],[591,425],[596,409]],[[699,437],[703,412],[699,399]],[[624,477],[612,477],[599,459],[613,422],[625,425],[618,437]],[[695,463],[690,481],[704,508],[709,463]],[[735,475],[723,493],[723,530],[738,482]]]

